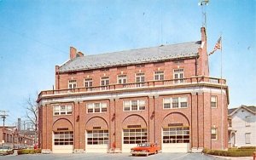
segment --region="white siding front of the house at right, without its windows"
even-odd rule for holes
[[[245,120],[247,116],[251,116],[250,126],[246,126]],[[232,129],[236,130],[236,144],[235,146],[256,146],[256,115],[252,112],[241,108],[232,115]],[[251,143],[245,143],[245,134],[251,133]]]

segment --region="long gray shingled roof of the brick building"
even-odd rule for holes
[[[201,41],[178,43],[145,49],[132,49],[108,54],[93,54],[68,60],[60,71],[90,70],[110,66],[128,66],[159,60],[171,60],[198,55]]]

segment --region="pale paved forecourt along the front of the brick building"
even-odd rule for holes
[[[104,159],[104,160],[212,160],[215,157],[209,157],[201,153],[159,153],[148,157],[131,157],[129,153],[84,153],[84,154],[35,154],[35,155],[9,155],[0,157],[4,160],[75,160],[75,159]],[[220,158],[218,158],[220,159]]]

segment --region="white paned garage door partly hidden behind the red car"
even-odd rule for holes
[[[147,129],[123,129],[122,152],[130,152],[138,143],[147,141]]]

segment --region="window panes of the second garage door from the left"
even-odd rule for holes
[[[108,130],[87,130],[87,145],[108,144]]]

